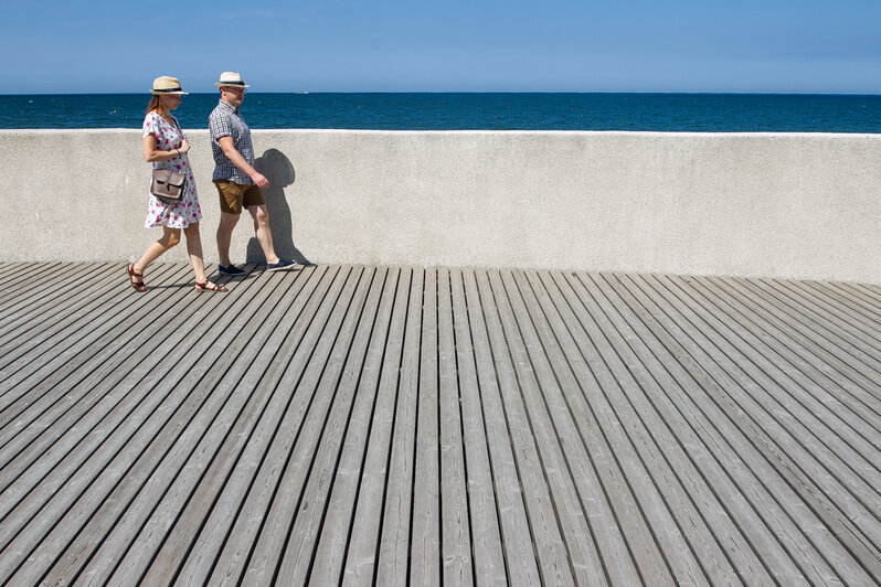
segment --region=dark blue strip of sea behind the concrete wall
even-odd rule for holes
[[[0,128],[140,128],[148,94],[0,95]],[[217,94],[190,94],[206,128]],[[881,132],[879,95],[615,93],[250,93],[251,128]]]

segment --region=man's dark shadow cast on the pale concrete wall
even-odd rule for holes
[[[285,153],[278,149],[268,149],[254,161],[254,169],[269,180],[269,186],[263,190],[266,210],[269,212],[269,230],[273,233],[275,254],[283,259],[294,259],[302,265],[311,265],[309,259],[294,245],[290,207],[285,196],[285,188],[293,185],[297,173]],[[247,243],[247,262],[265,263],[263,249],[255,237]]]

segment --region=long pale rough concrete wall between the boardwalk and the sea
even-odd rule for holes
[[[205,130],[189,131],[216,262]],[[315,263],[881,284],[881,136],[254,131],[276,247]],[[137,258],[137,130],[0,131],[0,259]],[[185,258],[184,248],[172,252]],[[262,258],[243,216],[233,259]]]

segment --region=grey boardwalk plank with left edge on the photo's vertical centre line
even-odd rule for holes
[[[463,448],[463,426],[453,327],[449,271],[437,270],[437,362],[440,442],[440,559],[438,583],[467,587],[474,584],[468,490]],[[501,553],[499,553],[501,554]]]

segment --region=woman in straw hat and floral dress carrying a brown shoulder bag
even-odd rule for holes
[[[152,163],[155,169],[171,169],[187,177],[183,201],[178,204],[166,204],[150,194],[145,226],[162,227],[162,237],[147,248],[137,263],[129,264],[128,278],[136,291],[147,291],[144,285],[144,271],[160,255],[180,243],[180,233],[187,236],[187,253],[193,264],[197,291],[226,291],[226,288],[209,281],[205,277],[205,265],[202,260],[202,239],[199,236],[199,220],[202,211],[195,194],[195,179],[190,168],[187,151],[190,142],[171,115],[171,110],[180,106],[181,96],[187,93],[174,77],[157,77],[150,92],[153,97],[147,106],[144,119],[144,159]]]

